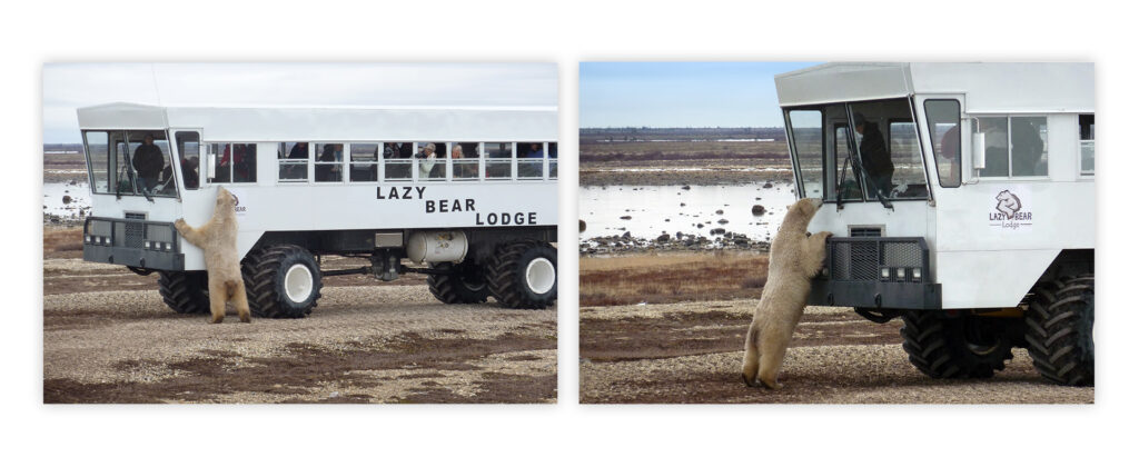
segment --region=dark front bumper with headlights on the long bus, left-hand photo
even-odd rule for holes
[[[88,218],[83,261],[162,271],[186,270],[186,256],[172,222]]]

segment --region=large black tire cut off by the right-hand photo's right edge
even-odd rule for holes
[[[1032,366],[1044,378],[1068,386],[1096,385],[1095,290],[1096,277],[1090,273],[1032,289],[1025,341]]]

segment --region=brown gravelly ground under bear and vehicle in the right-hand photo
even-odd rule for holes
[[[1092,387],[1046,382],[1023,350],[991,379],[944,380],[915,369],[901,320],[810,306],[780,391],[740,379],[744,333],[757,300],[582,308],[582,403],[1091,403]]]

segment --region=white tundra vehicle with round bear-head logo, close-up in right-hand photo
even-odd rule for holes
[[[934,378],[1095,384],[1092,64],[825,64],[776,76],[798,197],[822,198],[810,304],[903,320]]]

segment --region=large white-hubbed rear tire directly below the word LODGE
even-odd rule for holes
[[[486,265],[486,284],[502,306],[544,309],[558,298],[557,267],[558,252],[550,244],[533,240],[505,244]]]

